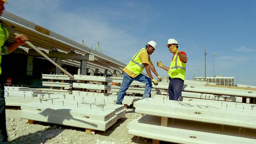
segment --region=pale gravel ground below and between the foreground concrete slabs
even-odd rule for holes
[[[20,107],[6,108],[10,144],[152,144],[152,139],[128,134],[127,124],[140,116],[134,108],[126,109],[126,115],[108,130],[95,131],[95,134],[86,134],[83,128],[45,122],[28,124],[28,120],[20,118],[20,112]]]

